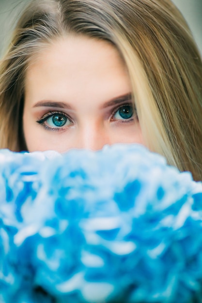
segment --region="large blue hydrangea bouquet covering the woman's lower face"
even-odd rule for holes
[[[0,303],[202,302],[202,183],[136,144],[0,151]]]

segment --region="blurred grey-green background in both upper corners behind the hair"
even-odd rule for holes
[[[10,40],[15,20],[30,0],[0,0],[0,57]],[[173,0],[182,12],[202,54],[202,0]]]

